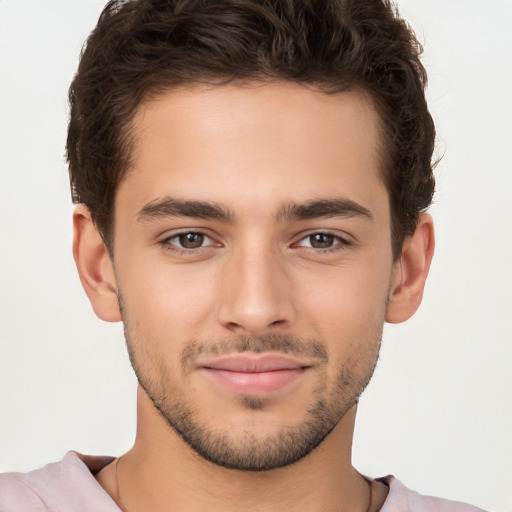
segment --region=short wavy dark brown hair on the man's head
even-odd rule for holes
[[[435,129],[421,45],[389,0],[111,0],[69,92],[67,156],[110,251],[130,126],[149,95],[177,85],[289,80],[360,88],[381,119],[395,257],[434,192]]]

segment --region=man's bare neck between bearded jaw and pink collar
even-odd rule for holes
[[[193,452],[139,390],[135,444],[98,481],[125,512],[366,512],[370,486],[351,464],[355,413],[354,406],[320,446],[295,464],[239,471]]]

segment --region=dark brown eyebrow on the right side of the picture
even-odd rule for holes
[[[278,221],[308,220],[322,217],[366,217],[373,220],[370,210],[346,198],[320,199],[307,203],[289,203],[277,213]]]

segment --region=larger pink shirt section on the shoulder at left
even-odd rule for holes
[[[118,512],[91,473],[111,460],[68,452],[29,473],[0,474],[0,512]]]

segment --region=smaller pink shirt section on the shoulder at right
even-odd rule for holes
[[[484,512],[459,501],[423,496],[411,491],[394,476],[377,479],[389,487],[389,494],[380,512]]]

